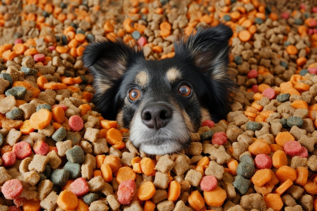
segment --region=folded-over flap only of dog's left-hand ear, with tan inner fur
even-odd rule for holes
[[[121,41],[101,41],[86,47],[83,62],[94,76],[96,96],[104,94],[124,74],[136,54]]]

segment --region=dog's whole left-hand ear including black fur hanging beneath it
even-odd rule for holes
[[[94,76],[93,102],[103,117],[116,118],[122,106],[118,97],[122,75],[137,57],[143,57],[143,53],[118,40],[97,42],[86,47],[83,62]]]

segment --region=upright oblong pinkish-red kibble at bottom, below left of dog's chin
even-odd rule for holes
[[[134,180],[125,180],[120,183],[117,191],[117,200],[121,204],[130,204],[134,196],[136,184]]]

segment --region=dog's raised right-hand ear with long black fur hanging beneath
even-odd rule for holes
[[[211,99],[211,103],[215,104],[212,106],[210,102],[205,102],[209,104],[212,116],[219,120],[230,110],[230,94],[235,88],[228,73],[228,40],[232,34],[230,27],[219,24],[216,27],[199,29],[186,42],[181,41],[175,46],[175,57],[194,62],[198,71],[209,78],[209,87],[203,88],[205,93],[201,93],[201,97]]]

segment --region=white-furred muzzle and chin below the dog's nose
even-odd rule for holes
[[[164,155],[178,153],[189,146],[190,133],[181,114],[174,111],[173,120],[159,130],[148,128],[140,115],[136,116],[131,123],[130,141],[139,150],[150,155]]]

